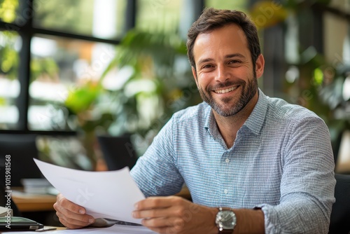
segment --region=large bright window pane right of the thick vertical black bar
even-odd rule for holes
[[[31,40],[29,129],[75,130],[67,125],[69,113],[64,108],[69,90],[88,83],[97,84],[115,53],[115,47],[106,43],[34,36]]]

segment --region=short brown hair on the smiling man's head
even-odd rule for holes
[[[187,55],[192,67],[195,67],[195,57],[193,55],[193,46],[197,36],[202,33],[211,32],[214,29],[225,25],[237,24],[244,31],[248,41],[248,47],[251,51],[251,60],[255,67],[255,62],[261,53],[258,38],[258,30],[254,23],[241,11],[217,10],[214,8],[204,9],[200,18],[195,21],[188,30],[187,36]],[[195,67],[196,68],[196,67]]]

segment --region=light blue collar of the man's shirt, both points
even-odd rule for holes
[[[266,113],[267,113],[267,96],[258,88],[259,98],[258,102],[255,104],[251,115],[247,118],[246,122],[242,126],[250,129],[255,135],[258,135],[265,123]],[[218,127],[216,125],[216,120],[214,118],[213,111],[207,112],[206,121],[204,128],[206,128],[212,136],[217,136],[219,134]]]

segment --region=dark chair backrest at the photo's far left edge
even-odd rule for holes
[[[38,158],[35,135],[0,135],[0,179],[5,179],[8,167],[11,187],[22,186],[21,179],[24,178],[42,177],[33,158]],[[6,166],[6,163],[10,164]]]

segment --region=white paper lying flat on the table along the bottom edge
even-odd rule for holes
[[[40,232],[25,231],[25,232],[6,232],[6,234],[38,234]],[[45,234],[75,234],[75,233],[88,233],[88,234],[154,234],[152,230],[145,228],[144,226],[125,226],[114,225],[110,228],[83,228],[83,229],[68,229],[68,230],[48,230],[43,232]]]

